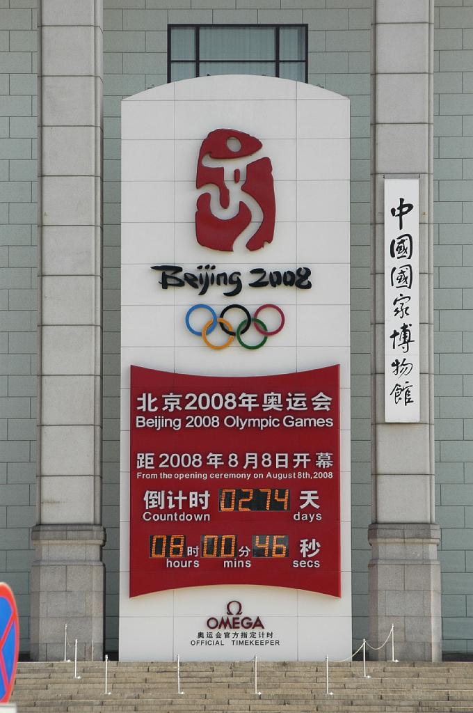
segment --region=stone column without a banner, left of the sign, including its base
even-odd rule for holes
[[[100,498],[102,0],[38,13],[38,517],[31,657],[103,650]],[[73,653],[73,650],[70,650]]]

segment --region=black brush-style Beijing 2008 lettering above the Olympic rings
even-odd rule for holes
[[[183,272],[180,265],[152,265],[151,270],[161,272],[158,281],[162,289],[168,287],[184,287],[188,285],[193,289],[198,289],[199,294],[206,294],[209,287],[214,284],[217,287],[231,287],[223,294],[226,297],[233,297],[243,289],[241,272],[214,272],[216,265],[197,265],[199,272]],[[298,289],[311,289],[312,283],[311,269],[309,267],[296,267],[295,270],[266,270],[264,267],[254,267],[249,270],[252,281],[248,287],[297,287]],[[254,279],[253,279],[254,277]]]

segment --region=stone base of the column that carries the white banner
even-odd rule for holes
[[[380,646],[394,624],[395,658],[442,660],[440,528],[430,523],[373,523],[368,528],[370,644]],[[391,647],[370,650],[385,661]]]

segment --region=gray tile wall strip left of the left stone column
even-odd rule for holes
[[[36,498],[36,1],[0,0],[0,581],[29,648]]]

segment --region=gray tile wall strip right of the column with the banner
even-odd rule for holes
[[[443,649],[473,652],[473,4],[435,9],[435,437]]]

